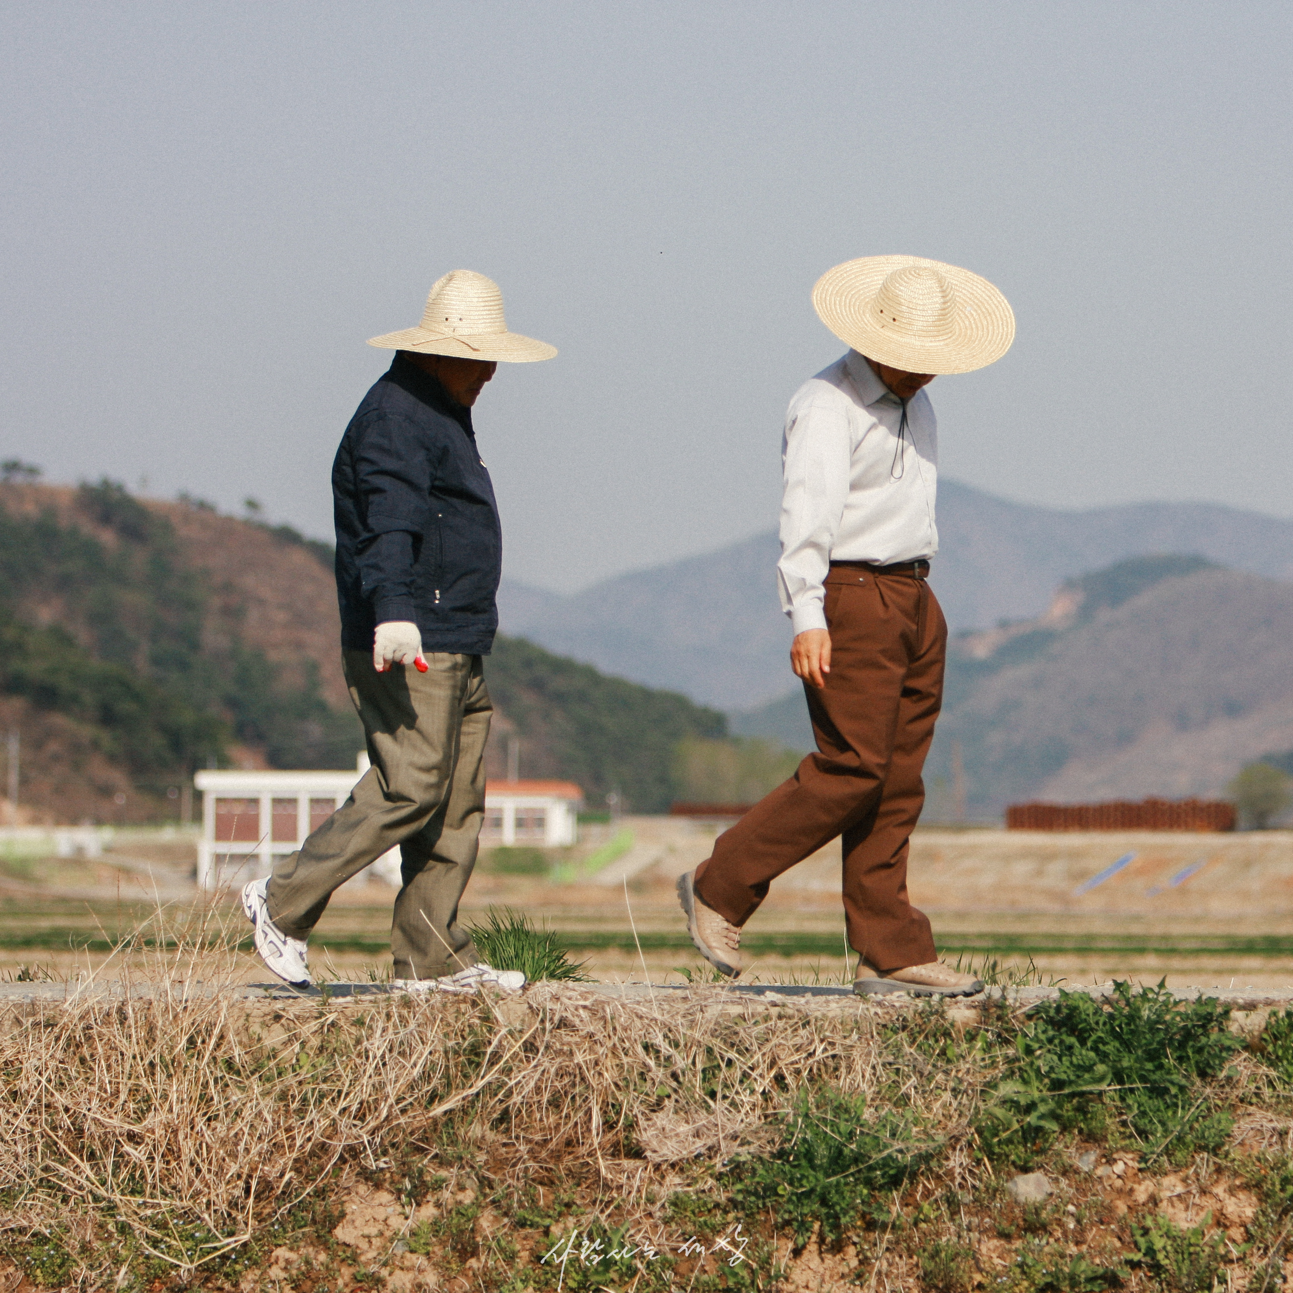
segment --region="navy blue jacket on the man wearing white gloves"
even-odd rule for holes
[[[423,650],[489,654],[503,533],[469,409],[396,354],[332,464],[341,645],[411,619]]]

